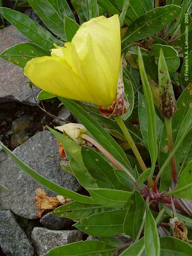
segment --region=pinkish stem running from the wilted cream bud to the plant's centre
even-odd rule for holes
[[[133,177],[133,175],[131,174],[131,172],[129,172],[127,169],[123,168],[121,166],[121,164],[105,149],[102,147],[102,145],[100,145],[98,142],[96,142],[96,140],[94,140],[93,138],[91,138],[90,136],[88,136],[87,134],[81,134],[80,135],[81,139],[83,140],[87,140],[90,143],[92,143],[96,148],[99,149],[99,151],[101,151],[105,157],[107,157],[111,163],[113,163],[114,166],[116,166],[116,168],[126,172],[129,177],[131,178],[131,180],[136,183],[135,178]]]

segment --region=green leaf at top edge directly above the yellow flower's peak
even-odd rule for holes
[[[97,16],[96,0],[71,0],[71,3],[82,20],[87,21]]]

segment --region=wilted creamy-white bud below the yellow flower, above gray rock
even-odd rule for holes
[[[55,129],[66,132],[66,134],[74,140],[77,144],[84,144],[85,140],[81,139],[81,134],[88,134],[87,129],[81,124],[66,124],[55,127]]]

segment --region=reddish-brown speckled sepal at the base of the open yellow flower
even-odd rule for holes
[[[122,116],[127,113],[129,103],[124,100],[124,84],[121,78],[118,79],[116,99],[109,107],[98,106],[99,112],[105,117]]]

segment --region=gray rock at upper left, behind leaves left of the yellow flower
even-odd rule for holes
[[[0,29],[0,53],[15,44],[27,42],[28,39],[20,34],[14,26]],[[19,101],[29,105],[36,105],[32,90],[23,75],[23,69],[13,63],[0,58],[0,103]],[[40,89],[34,87],[35,96]]]

